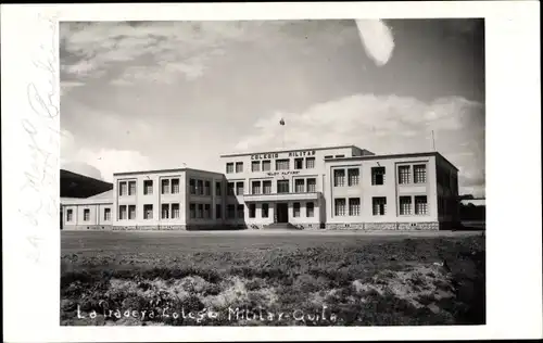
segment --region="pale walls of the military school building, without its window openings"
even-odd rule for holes
[[[331,156],[331,158],[325,158]],[[307,157],[315,158],[314,168],[306,168]],[[304,158],[303,167],[294,167],[295,158]],[[113,192],[105,194],[102,199],[84,199],[63,201],[63,226],[65,229],[77,229],[87,227],[100,227],[113,225],[114,229],[213,229],[213,228],[248,228],[263,227],[272,224],[276,217],[276,204],[278,202],[288,204],[289,223],[303,226],[304,228],[316,228],[326,225],[331,229],[444,229],[450,228],[457,218],[457,207],[453,202],[458,194],[457,170],[441,155],[434,153],[376,156],[367,150],[355,147],[315,149],[303,151],[285,151],[277,153],[244,154],[236,156],[225,156],[222,158],[225,169],[227,163],[243,163],[243,170],[240,173],[212,173],[190,168],[176,170],[156,170],[141,173],[125,173],[114,175]],[[270,161],[270,170],[262,170],[262,161]],[[289,170],[276,170],[276,160],[289,160]],[[252,172],[252,162],[261,162],[261,170]],[[426,165],[426,182],[414,182],[414,165]],[[399,183],[399,167],[411,166],[411,180],[407,185]],[[376,186],[371,183],[371,168],[384,167],[384,185]],[[349,168],[358,169],[358,185],[349,186]],[[334,170],[343,169],[345,185],[333,186]],[[306,192],[308,178],[316,180],[314,193]],[[179,192],[162,193],[162,180],[179,179]],[[198,187],[198,180],[205,186],[210,182],[210,194],[191,193],[190,180],[193,179]],[[304,192],[295,192],[295,180],[304,179]],[[151,194],[144,193],[144,181],[150,180],[153,185]],[[272,193],[252,194],[252,181],[270,180]],[[277,181],[289,180],[289,193],[277,193]],[[136,191],[131,195],[119,195],[121,182],[136,182]],[[220,185],[220,192],[217,192],[216,185]],[[243,182],[243,192],[228,195],[228,182]],[[235,183],[236,186],[236,183]],[[129,186],[127,185],[127,190]],[[236,191],[236,187],[235,187]],[[427,196],[427,213],[415,214],[416,195]],[[112,198],[111,200],[109,198]],[[372,198],[382,196],[387,199],[387,212],[384,215],[374,215]],[[400,214],[400,196],[412,196],[412,214]],[[359,199],[359,214],[349,215],[349,199]],[[345,200],[345,215],[334,214],[334,199]],[[446,201],[445,201],[446,200]],[[439,209],[446,202],[446,211]],[[314,216],[306,216],[306,205],[314,203]],[[268,204],[268,217],[262,217],[263,204]],[[300,203],[300,216],[294,217],[294,203]],[[144,218],[144,205],[152,205],[152,218]],[[179,217],[162,218],[163,204],[179,204]],[[191,217],[190,204],[195,205],[197,217]],[[199,204],[210,205],[210,218],[198,218]],[[255,216],[250,216],[250,206],[254,204]],[[119,206],[135,205],[136,217],[134,219],[121,219]],[[216,215],[216,205],[220,205],[220,216]],[[233,218],[228,218],[228,206],[233,206]],[[238,207],[242,206],[243,215],[238,215]],[[104,208],[111,208],[112,220],[104,220]],[[89,220],[83,221],[85,208],[90,212]],[[66,220],[67,211],[73,211],[73,220]],[[204,207],[202,208],[204,209]],[[127,207],[128,215],[128,207]]]

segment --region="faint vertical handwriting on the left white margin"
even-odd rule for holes
[[[35,79],[26,87],[30,111],[25,112],[21,125],[28,142],[30,163],[24,170],[24,183],[20,189],[22,204],[18,206],[20,214],[28,224],[25,232],[30,247],[28,258],[34,263],[40,258],[40,243],[43,240],[41,216],[52,218],[59,214],[58,20],[54,16],[39,15],[38,21],[43,26],[42,34],[47,39],[33,53],[33,71],[36,74]]]

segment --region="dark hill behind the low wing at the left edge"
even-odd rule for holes
[[[61,198],[89,198],[113,189],[113,183],[61,169]]]

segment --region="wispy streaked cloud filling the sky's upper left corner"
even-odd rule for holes
[[[251,22],[61,23],[62,71],[98,78],[117,65],[125,73],[113,82],[193,80],[228,41],[255,39]],[[147,76],[147,77],[146,77]]]

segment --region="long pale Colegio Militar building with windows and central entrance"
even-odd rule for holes
[[[458,221],[458,169],[438,152],[376,155],[348,145],[220,160],[223,173],[115,174],[111,193],[63,202],[63,227],[439,230]]]

